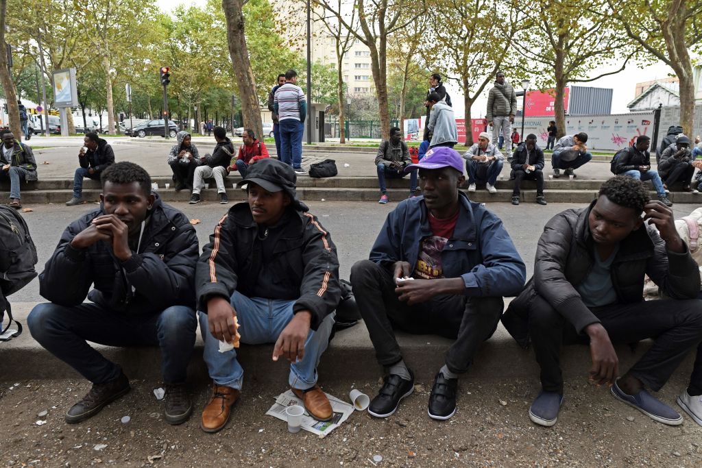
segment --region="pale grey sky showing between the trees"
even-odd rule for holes
[[[156,0],[157,6],[161,8],[162,11],[172,11],[178,5],[197,5],[204,6],[206,0]],[[609,68],[611,69],[611,68]],[[640,83],[641,81],[651,81],[654,79],[665,78],[668,74],[672,73],[673,70],[670,69],[663,62],[658,62],[656,60],[649,60],[640,65],[628,65],[623,72],[616,75],[605,76],[596,81],[590,83],[576,83],[576,86],[594,86],[597,88],[612,88],[614,89],[614,95],[612,97],[612,113],[624,113],[628,112],[626,105],[634,99],[635,83]],[[599,72],[595,71],[592,76],[597,76]],[[509,80],[509,77],[508,77]],[[516,90],[521,90],[520,83],[512,83]],[[453,109],[456,112],[456,117],[458,119],[463,116],[463,95],[458,92],[458,86],[455,83],[449,83],[449,93],[451,94],[451,101],[453,102]],[[472,116],[477,118],[479,116],[484,116],[485,107],[487,105],[487,93],[479,98],[472,107]]]

